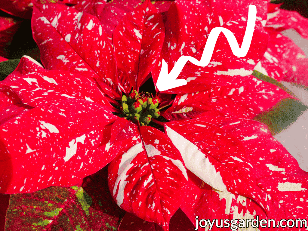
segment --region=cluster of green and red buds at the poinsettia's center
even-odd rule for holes
[[[121,110],[128,120],[132,119],[135,123],[139,121],[140,125],[144,126],[151,122],[151,118],[160,116],[160,111],[157,108],[158,103],[158,99],[150,93],[138,93],[136,90],[132,90],[128,97],[122,96]]]

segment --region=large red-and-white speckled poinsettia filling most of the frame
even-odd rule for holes
[[[229,230],[221,219],[306,218],[307,172],[256,121],[297,100],[253,72],[269,49],[268,2],[32,4],[43,65],[23,56],[0,82],[5,230]],[[178,77],[187,85],[159,92],[162,59],[169,71],[181,55],[200,60],[213,28],[241,44],[249,5],[257,20],[245,57],[220,35],[208,66],[187,63]]]

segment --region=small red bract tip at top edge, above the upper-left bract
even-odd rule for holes
[[[106,1],[107,0],[78,0],[77,4],[72,6],[72,8],[82,13],[86,12],[92,14],[96,18],[99,18],[99,14],[104,9]]]

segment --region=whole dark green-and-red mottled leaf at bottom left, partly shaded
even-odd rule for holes
[[[11,195],[6,230],[114,231],[124,213],[112,200],[105,167],[84,178],[80,187]]]

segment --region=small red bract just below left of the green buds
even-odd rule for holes
[[[110,143],[132,139],[136,131],[136,126],[131,121],[118,118],[112,124]]]

